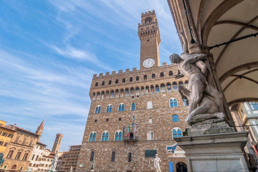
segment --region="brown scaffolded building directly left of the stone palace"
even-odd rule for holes
[[[57,170],[70,171],[70,168],[72,167],[72,170],[75,171],[80,148],[81,145],[69,146],[69,151],[63,154],[62,161],[60,162],[59,168],[57,168]]]

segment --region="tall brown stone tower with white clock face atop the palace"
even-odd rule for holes
[[[140,69],[158,67],[160,35],[155,10],[142,13],[138,36],[141,41]]]

